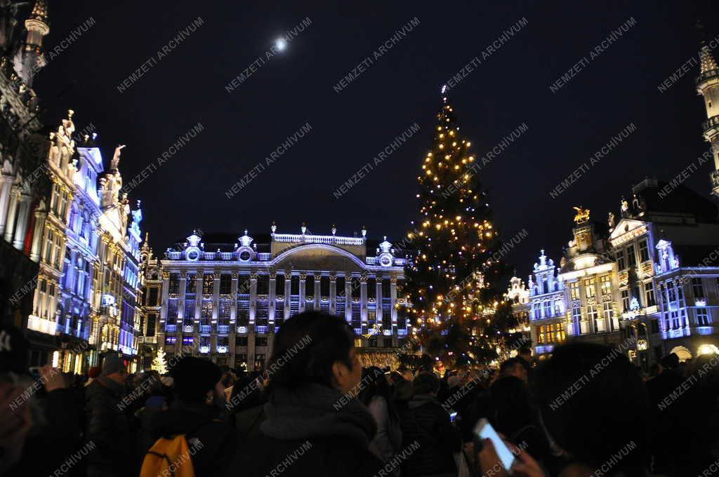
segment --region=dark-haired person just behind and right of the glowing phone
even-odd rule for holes
[[[490,386],[490,423],[497,432],[540,463],[549,457],[549,441],[526,384],[514,376],[502,376]]]

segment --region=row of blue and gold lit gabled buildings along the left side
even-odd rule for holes
[[[33,366],[83,373],[111,351],[132,371],[142,213],[138,205],[128,228],[119,151],[103,176],[93,124],[76,131],[73,111],[57,129],[40,122],[32,84],[45,65],[49,11],[35,1],[22,29],[24,5],[0,1],[1,318],[24,331]]]

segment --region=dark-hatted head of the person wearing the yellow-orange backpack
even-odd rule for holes
[[[222,377],[222,371],[212,361],[188,356],[170,369],[170,376],[173,377],[178,399],[185,404],[197,405],[207,402],[209,392],[214,391]]]

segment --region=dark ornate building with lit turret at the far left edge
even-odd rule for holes
[[[50,27],[45,1],[35,2],[24,23],[21,9],[0,2],[0,320],[26,329],[39,269],[30,259],[31,222],[49,184],[32,82]],[[42,346],[42,335],[28,338]]]

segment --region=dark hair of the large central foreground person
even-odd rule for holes
[[[353,369],[352,348],[354,332],[342,318],[317,311],[293,316],[275,335],[267,362],[267,392],[306,384],[335,387],[334,365],[339,362]]]

